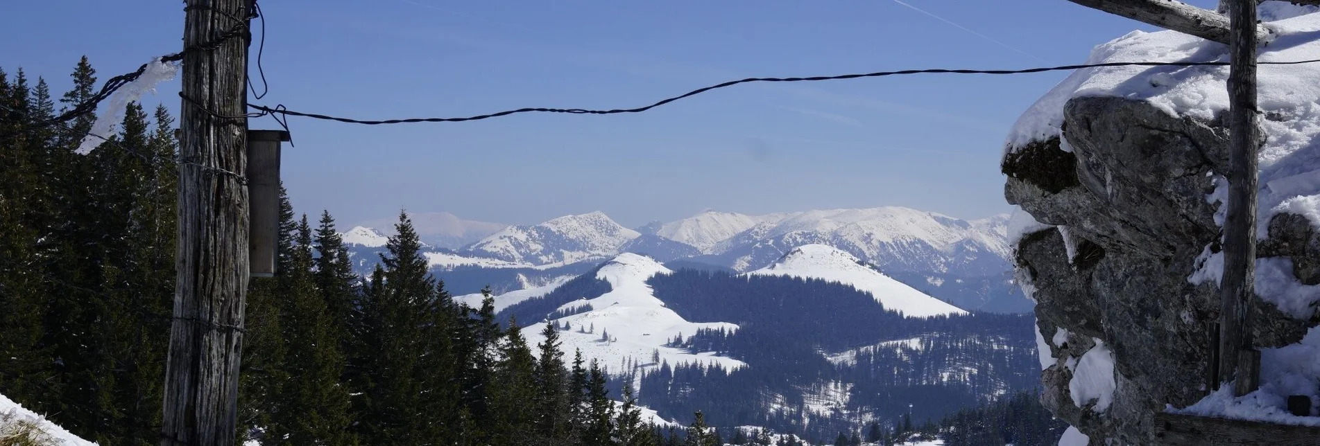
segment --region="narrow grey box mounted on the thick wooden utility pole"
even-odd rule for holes
[[[248,131],[248,261],[252,277],[272,277],[280,240],[280,143],[285,131]]]

